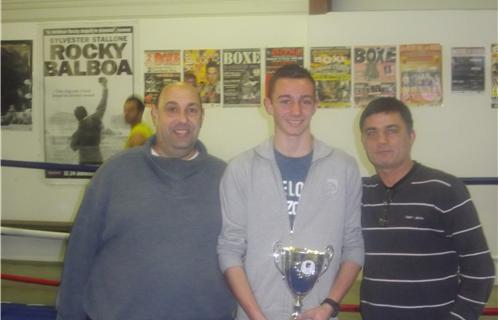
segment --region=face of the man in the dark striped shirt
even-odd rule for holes
[[[361,141],[376,170],[396,170],[411,162],[415,132],[398,112],[380,112],[365,119]]]

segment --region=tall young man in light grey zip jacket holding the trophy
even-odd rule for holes
[[[273,261],[276,241],[335,250],[304,298],[300,319],[337,316],[363,264],[358,167],[311,134],[318,104],[310,73],[298,65],[281,67],[265,99],[274,136],[233,159],[223,176],[218,256],[239,303],[237,319],[289,318],[293,296]]]

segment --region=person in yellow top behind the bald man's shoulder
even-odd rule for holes
[[[125,149],[143,145],[154,134],[154,130],[142,122],[144,109],[145,105],[142,99],[137,96],[129,96],[124,103],[123,115],[126,123],[131,127]]]

